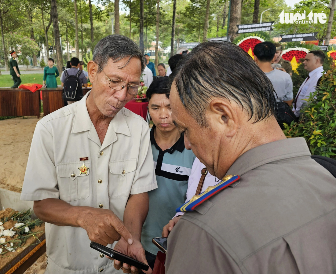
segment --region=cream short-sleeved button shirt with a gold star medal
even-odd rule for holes
[[[110,122],[101,144],[86,108],[87,96],[37,123],[21,199],[55,198],[74,206],[101,204],[123,220],[130,194],[157,188],[149,127],[140,116],[123,108]],[[88,160],[80,161],[82,157]],[[87,174],[80,174],[83,164]],[[49,223],[45,228],[46,273],[116,271],[113,261],[100,258],[100,252],[89,246],[84,229]]]

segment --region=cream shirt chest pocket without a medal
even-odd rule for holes
[[[109,196],[128,197],[136,169],[136,159],[110,161]]]

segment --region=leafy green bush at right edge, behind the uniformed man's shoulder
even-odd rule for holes
[[[285,124],[287,138],[303,137],[313,155],[336,158],[336,70],[328,70],[320,85],[306,99],[302,118]]]

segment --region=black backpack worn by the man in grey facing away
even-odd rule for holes
[[[78,71],[76,75],[69,75],[65,70],[65,81],[63,84],[63,99],[66,101],[79,101],[83,97],[83,89],[79,81],[79,75],[82,73]]]

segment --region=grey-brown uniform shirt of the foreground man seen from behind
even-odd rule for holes
[[[336,272],[336,179],[303,138],[253,148],[227,174],[241,179],[173,228],[166,273]]]

